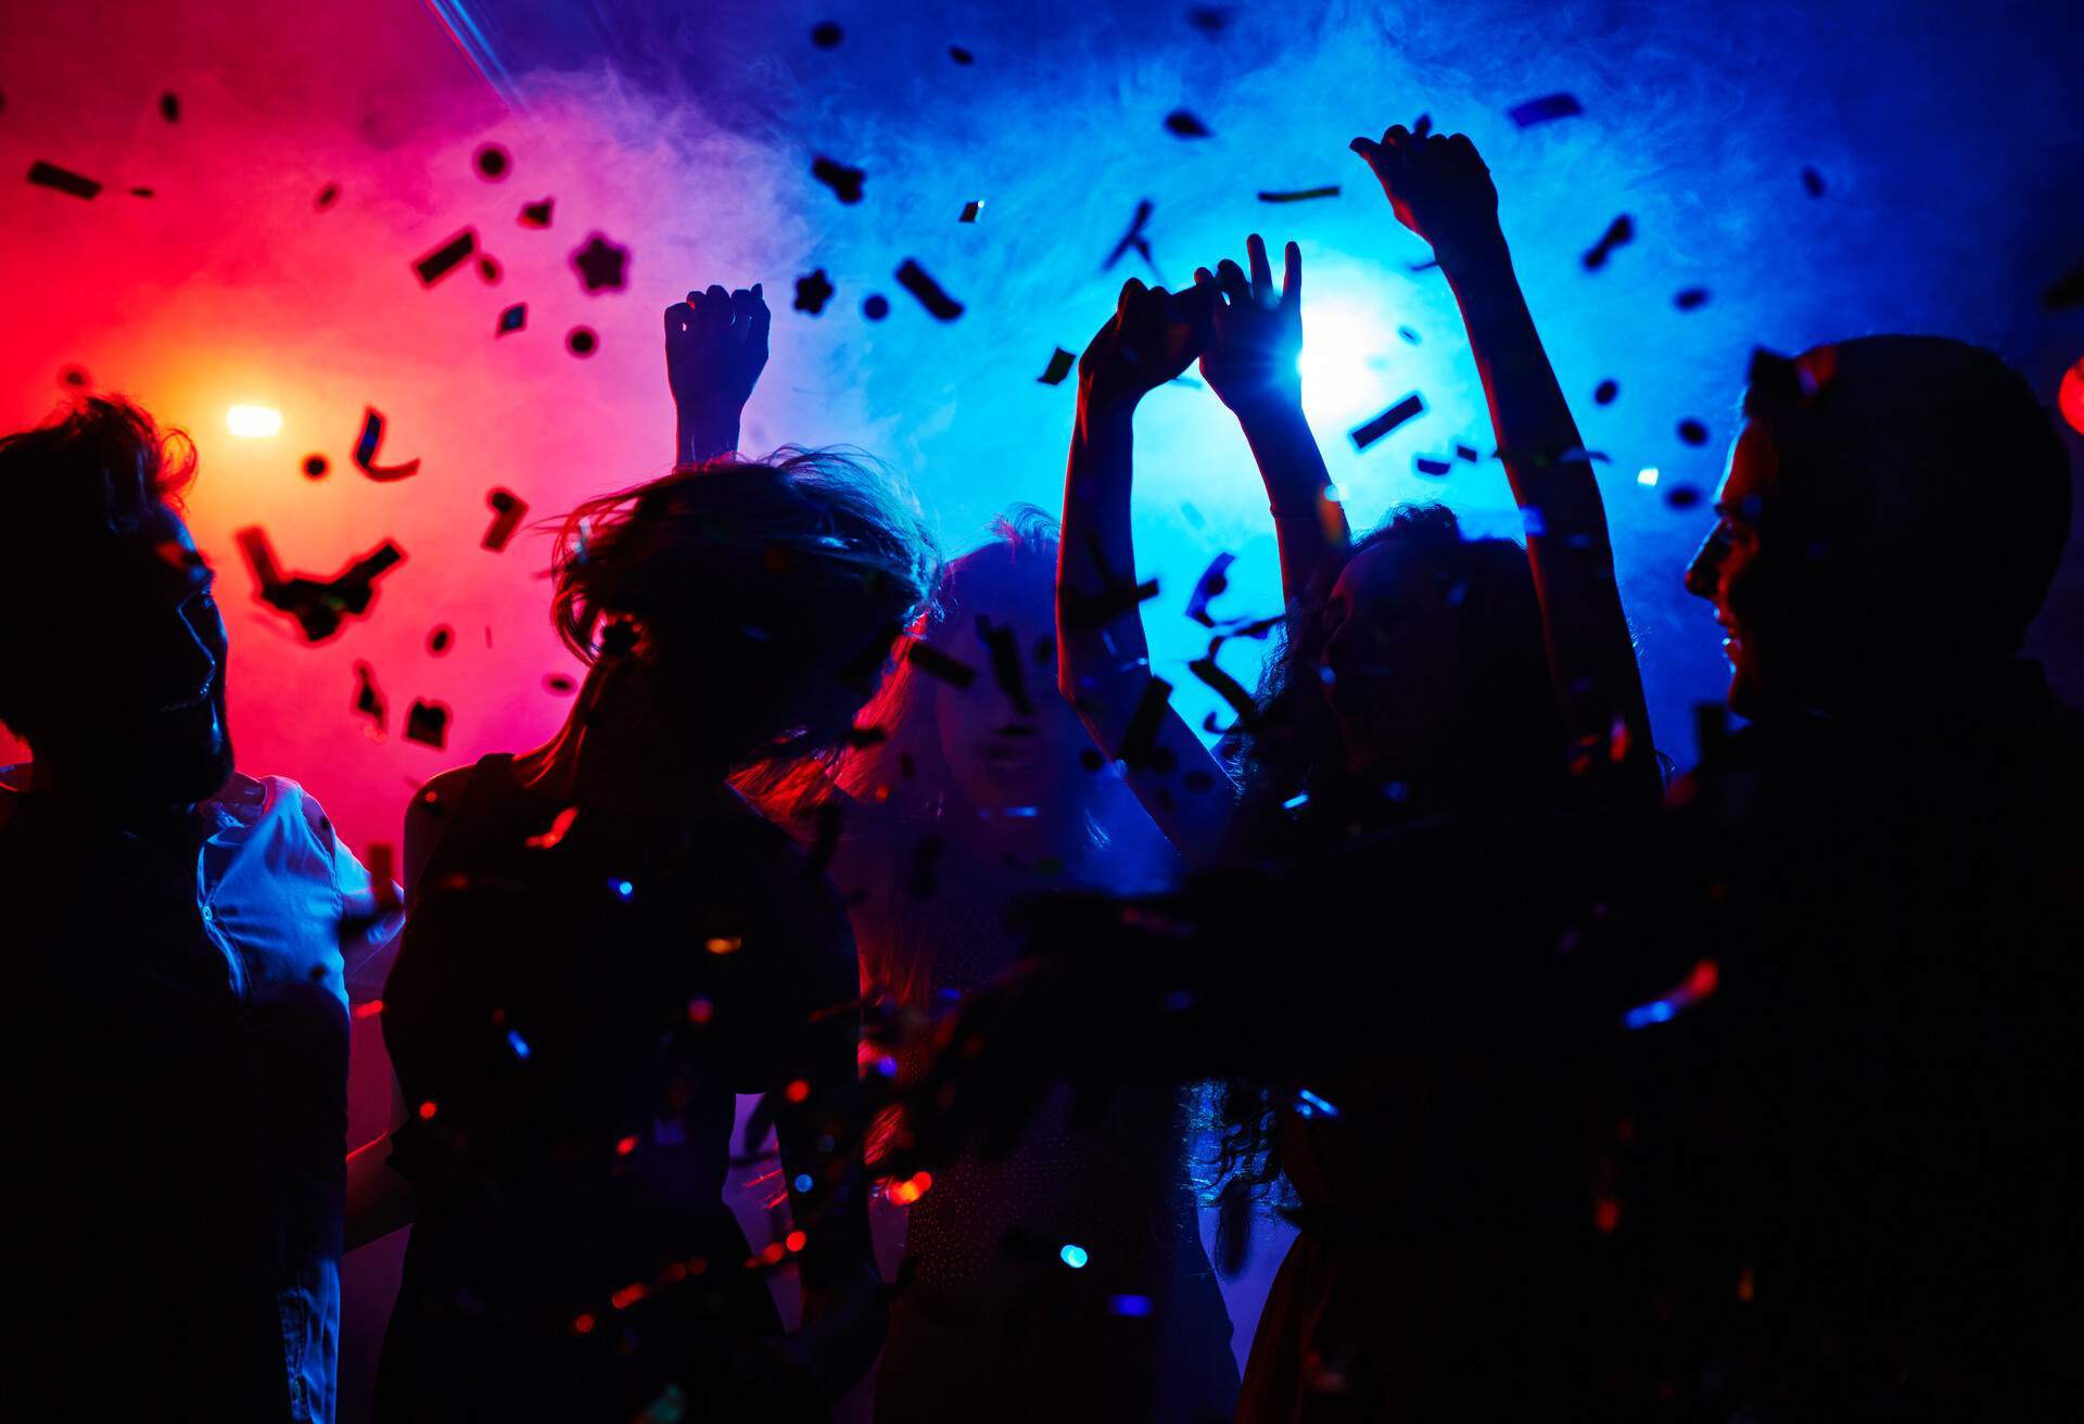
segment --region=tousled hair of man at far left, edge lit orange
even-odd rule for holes
[[[0,723],[33,742],[35,673],[23,623],[54,580],[96,567],[96,546],[135,534],[156,507],[179,509],[196,446],[123,396],[88,396],[63,417],[0,436],[0,511],[17,538],[0,559]],[[31,723],[31,726],[25,726]]]

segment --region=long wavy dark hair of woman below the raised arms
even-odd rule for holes
[[[1319,665],[1332,588],[1375,546],[1409,553],[1440,590],[1434,617],[1453,619],[1461,678],[1457,707],[1425,757],[1361,782],[1346,769]],[[1513,540],[1465,538],[1440,505],[1398,507],[1367,536],[1325,555],[1267,657],[1257,707],[1252,730],[1223,746],[1244,786],[1240,851],[1250,857],[1307,855],[1355,824],[1382,828],[1473,809],[1553,811],[1569,796],[1567,744],[1528,550]],[[1213,1168],[1225,1218],[1280,1180],[1273,1147],[1292,1088],[1267,1080],[1211,1086],[1207,1126],[1217,1132]],[[1225,1220],[1223,1230],[1238,1224]]]

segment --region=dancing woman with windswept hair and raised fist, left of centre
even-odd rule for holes
[[[765,306],[713,298],[667,311],[669,365],[690,336],[750,390]],[[379,1418],[825,1418],[873,1359],[854,940],[727,778],[846,736],[932,563],[869,471],[815,450],[711,452],[565,521],[552,611],[592,663],[571,717],[406,815],[383,1036],[413,1241]],[[723,1201],[738,1092],[779,1140],[786,1339]]]

